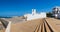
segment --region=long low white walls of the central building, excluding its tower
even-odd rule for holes
[[[40,13],[40,14],[26,14],[25,17],[27,17],[27,20],[33,20],[33,19],[39,19],[39,18],[46,18],[46,13]]]

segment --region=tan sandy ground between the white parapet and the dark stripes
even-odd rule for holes
[[[13,24],[11,25],[11,32],[34,32],[36,27],[42,22],[42,19],[37,19]]]

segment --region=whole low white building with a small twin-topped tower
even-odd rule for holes
[[[25,14],[24,17],[26,20],[38,19],[38,18],[46,18],[46,13],[36,13],[36,9],[32,9],[32,14]]]

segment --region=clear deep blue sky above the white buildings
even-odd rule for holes
[[[0,0],[0,16],[21,16],[31,9],[49,12],[54,6],[60,6],[60,0]]]

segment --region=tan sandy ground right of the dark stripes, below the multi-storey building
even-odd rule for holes
[[[47,18],[46,21],[52,27],[54,32],[60,32],[60,19]]]

